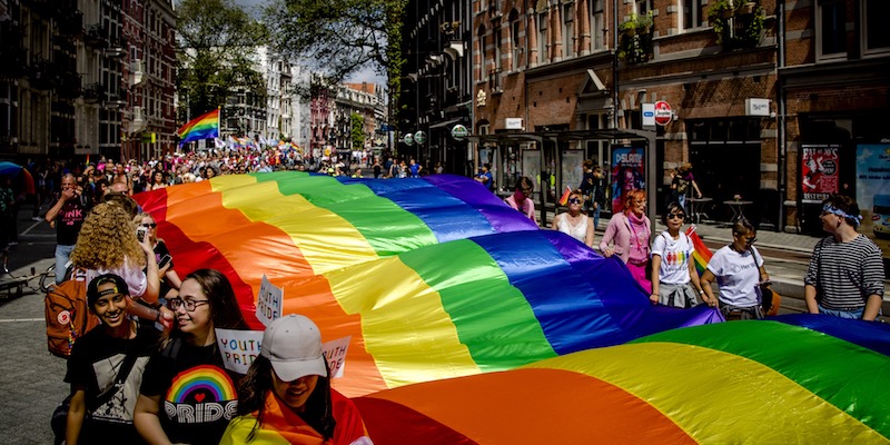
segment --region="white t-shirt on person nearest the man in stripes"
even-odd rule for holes
[[[763,257],[760,256],[756,247],[751,246],[751,249],[756,254],[756,266],[751,259],[750,250],[739,254],[730,246],[722,247],[708,263],[708,270],[714,274],[716,284],[720,286],[722,303],[738,307],[758,305],[759,267],[763,266]]]

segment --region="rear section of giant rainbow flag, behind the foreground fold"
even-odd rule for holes
[[[540,230],[456,176],[229,175],[137,196],[185,276],[224,271],[254,317],[265,274],[284,313],[352,337],[347,395],[511,369],[721,319],[653,307],[626,267]]]

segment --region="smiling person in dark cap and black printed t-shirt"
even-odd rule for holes
[[[127,317],[132,304],[123,278],[106,274],[87,287],[90,312],[102,322],[78,338],[65,380],[71,384],[66,443],[142,443],[132,425],[148,357],[158,343],[151,324]],[[123,374],[121,374],[123,373]],[[121,385],[117,385],[122,382]],[[117,386],[117,387],[116,387]],[[91,419],[87,419],[89,411]]]

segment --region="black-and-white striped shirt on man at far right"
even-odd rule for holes
[[[848,243],[827,237],[815,245],[803,283],[827,309],[862,308],[870,295],[883,297],[881,249],[861,234]]]

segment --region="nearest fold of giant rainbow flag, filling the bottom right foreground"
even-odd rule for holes
[[[674,329],[355,399],[378,444],[888,444],[890,326]]]

